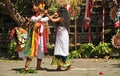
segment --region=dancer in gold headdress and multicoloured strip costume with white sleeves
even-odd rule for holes
[[[29,70],[29,64],[32,60],[32,57],[37,56],[37,70],[41,70],[41,62],[44,56],[44,53],[47,52],[46,45],[46,35],[44,31],[44,24],[49,20],[48,17],[43,17],[44,12],[44,3],[33,5],[33,11],[36,13],[35,16],[32,16],[30,22],[32,25],[28,29],[28,38],[26,42],[25,49],[25,70]]]

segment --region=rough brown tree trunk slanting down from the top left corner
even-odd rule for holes
[[[20,15],[20,13],[15,8],[11,0],[4,0],[4,3],[10,13],[10,17],[13,18],[17,22],[18,25],[26,25],[27,20],[23,16]]]

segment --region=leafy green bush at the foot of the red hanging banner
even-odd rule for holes
[[[85,43],[80,45],[80,54],[81,57],[90,57],[92,53],[95,51],[95,46],[92,43]]]

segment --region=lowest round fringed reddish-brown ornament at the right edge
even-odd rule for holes
[[[120,32],[118,30],[118,33],[116,35],[114,35],[111,39],[112,41],[112,45],[115,47],[115,48],[120,48]]]

